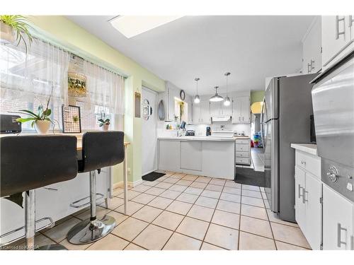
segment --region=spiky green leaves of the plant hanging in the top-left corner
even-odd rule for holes
[[[9,25],[16,33],[16,41],[18,41],[17,46],[20,44],[21,40],[25,44],[25,52],[27,53],[27,42],[25,42],[25,36],[28,37],[29,45],[33,41],[32,35],[30,35],[29,29],[31,28],[28,24],[28,18],[21,15],[1,15],[0,21]]]

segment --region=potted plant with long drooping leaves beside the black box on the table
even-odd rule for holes
[[[26,114],[29,117],[27,118],[18,118],[16,119],[16,122],[31,122],[31,126],[35,126],[35,130],[38,132],[38,134],[47,134],[47,132],[50,129],[50,124],[54,124],[52,122],[52,119],[50,119],[50,114],[52,114],[52,110],[49,108],[49,103],[50,103],[50,97],[47,100],[47,105],[44,108],[42,104],[38,106],[38,113],[35,114],[34,112],[30,110],[20,110],[16,113],[20,114]],[[53,128],[54,129],[54,128]]]

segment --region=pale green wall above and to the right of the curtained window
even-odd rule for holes
[[[102,40],[76,25],[64,16],[30,16],[35,26],[35,34],[57,43],[85,59],[95,61],[127,76],[125,82],[124,131],[128,148],[128,167],[130,182],[142,177],[142,121],[134,117],[134,93],[141,93],[142,84],[155,91],[164,91],[164,80],[144,69],[129,57],[110,47]],[[113,181],[122,179],[122,165],[113,168]]]

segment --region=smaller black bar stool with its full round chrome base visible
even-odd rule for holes
[[[67,234],[75,245],[84,245],[100,240],[115,227],[115,218],[96,218],[96,170],[110,167],[124,160],[124,133],[122,131],[91,131],[82,138],[82,160],[78,161],[79,172],[90,172],[91,217],[76,224]]]

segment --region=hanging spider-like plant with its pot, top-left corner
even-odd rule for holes
[[[4,43],[17,42],[17,46],[21,40],[25,44],[25,52],[27,53],[27,45],[33,41],[30,35],[30,25],[28,19],[20,15],[1,15],[0,16],[0,40]],[[25,36],[28,38],[28,44],[25,41]]]

